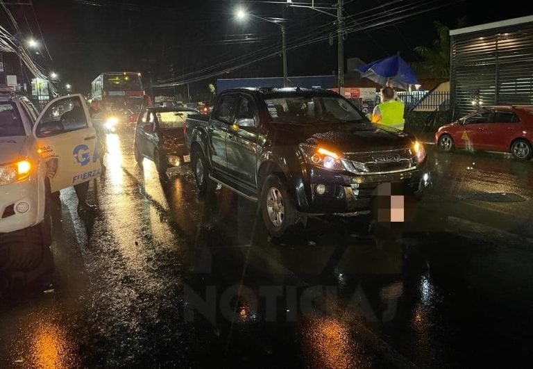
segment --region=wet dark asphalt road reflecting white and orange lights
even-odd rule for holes
[[[51,286],[0,299],[0,366],[521,366],[532,359],[532,163],[437,154],[399,240],[310,220],[276,243],[253,203],[160,180],[108,135],[99,205],[54,213]]]

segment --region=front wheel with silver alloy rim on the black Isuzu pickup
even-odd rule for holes
[[[276,174],[264,180],[260,207],[264,225],[273,237],[282,237],[296,223],[296,207],[287,184]]]

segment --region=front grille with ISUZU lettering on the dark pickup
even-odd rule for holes
[[[411,149],[346,153],[345,157],[363,174],[394,173],[412,170],[416,157]]]

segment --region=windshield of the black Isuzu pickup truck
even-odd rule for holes
[[[348,101],[330,96],[287,96],[265,99],[275,123],[316,124],[362,122]]]

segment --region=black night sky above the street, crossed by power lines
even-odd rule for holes
[[[302,0],[303,1],[303,0]],[[306,0],[307,1],[307,0]],[[310,0],[308,1],[310,3]],[[335,0],[322,0],[333,4]],[[366,62],[400,51],[408,61],[415,61],[412,49],[432,44],[437,38],[433,22],[438,20],[456,28],[456,19],[467,17],[477,25],[521,17],[519,6],[499,7],[495,11],[477,0],[345,0],[346,22],[364,26],[364,31],[350,33],[345,41],[345,58],[358,57]],[[384,4],[388,6],[382,6]],[[237,6],[262,17],[287,20],[287,44],[323,38],[319,43],[293,49],[288,53],[289,76],[335,74],[337,47],[328,42],[328,29],[335,30],[334,17],[313,10],[287,8],[267,1],[229,0],[35,0],[35,15],[30,6],[10,6],[24,33],[44,42],[52,60],[42,50],[36,56],[45,69],[60,74],[62,82],[74,90],[87,93],[90,81],[100,72],[133,70],[143,73],[146,82],[154,83],[198,72],[218,63],[233,60],[253,51],[265,49],[255,57],[235,60],[231,66],[259,57],[267,57],[219,78],[281,76],[281,58],[273,48],[280,47],[281,35],[276,24],[251,19],[241,24],[234,17]],[[380,7],[382,6],[382,7]],[[434,6],[441,8],[430,10]],[[401,13],[398,7],[403,7]],[[387,12],[384,9],[388,9]],[[430,11],[428,11],[430,10]],[[416,14],[417,12],[423,12]],[[376,24],[390,22],[389,24]],[[2,24],[6,24],[3,20]],[[9,27],[8,27],[9,28]],[[44,46],[41,46],[44,49]],[[189,76],[201,78],[220,72],[228,65]],[[214,83],[213,76],[191,83],[192,95],[198,96]],[[183,87],[176,88],[179,93]]]

